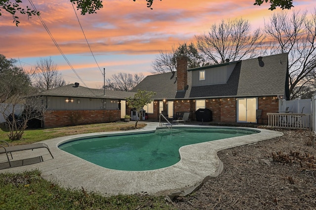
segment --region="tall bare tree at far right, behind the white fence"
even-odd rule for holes
[[[272,54],[288,53],[291,98],[298,97],[305,85],[315,81],[316,12],[310,18],[306,11],[274,13],[264,30],[272,40]]]

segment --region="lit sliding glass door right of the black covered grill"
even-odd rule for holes
[[[237,122],[256,121],[257,98],[237,98]]]

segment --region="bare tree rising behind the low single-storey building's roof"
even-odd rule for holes
[[[61,73],[58,72],[57,64],[55,64],[51,58],[38,61],[35,72],[34,87],[40,91],[66,85]]]

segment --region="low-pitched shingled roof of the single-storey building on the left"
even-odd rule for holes
[[[66,96],[66,97],[81,97],[81,98],[108,98],[108,99],[125,99],[134,97],[135,92],[117,91],[117,90],[104,90],[90,89],[85,87],[75,88],[74,84],[66,85],[63,87],[42,91],[39,95],[47,96]]]

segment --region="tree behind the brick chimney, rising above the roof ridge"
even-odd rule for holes
[[[194,43],[183,43],[179,44],[177,49],[173,46],[172,51],[169,53],[160,51],[159,56],[152,62],[153,70],[150,70],[150,72],[160,74],[175,71],[177,66],[176,57],[183,55],[188,57],[188,68],[202,66],[205,62]]]

